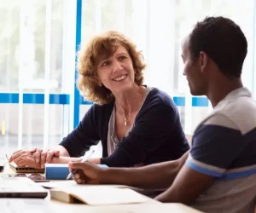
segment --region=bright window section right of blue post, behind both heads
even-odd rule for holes
[[[189,93],[188,83],[183,77],[181,43],[196,21],[207,15],[223,15],[241,26],[248,41],[242,79],[247,88],[254,91],[256,15],[253,0],[83,1],[82,43],[107,30],[117,30],[130,37],[137,43],[137,48],[143,50],[147,64],[145,83],[166,91],[172,97],[185,97],[185,106],[181,104],[178,108],[183,128],[191,134],[212,107],[206,97],[192,97]],[[86,110],[84,106],[82,109],[83,112]]]

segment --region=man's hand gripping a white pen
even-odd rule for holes
[[[98,167],[89,161],[84,163],[74,163],[70,162],[68,164],[69,171],[78,170],[73,174],[73,180],[79,184],[89,183],[89,184],[99,184],[101,183],[102,168]],[[106,169],[105,169],[106,170]]]

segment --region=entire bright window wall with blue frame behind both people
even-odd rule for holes
[[[78,9],[82,5],[82,17],[76,3]],[[189,93],[180,57],[183,37],[207,15],[235,20],[248,41],[242,80],[255,94],[255,4],[253,0],[0,0],[0,156],[20,147],[55,146],[73,130],[90,107],[87,103],[76,108],[76,43],[80,36],[86,43],[108,30],[123,32],[143,50],[145,83],[172,96],[183,128],[191,134],[212,107],[206,97]]]

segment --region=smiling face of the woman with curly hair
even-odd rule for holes
[[[100,58],[97,66],[99,83],[113,94],[131,89],[134,82],[134,69],[127,50],[117,44],[116,51],[108,58]]]

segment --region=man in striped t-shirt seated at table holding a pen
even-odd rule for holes
[[[177,161],[134,169],[70,163],[70,170],[81,169],[75,181],[169,187],[155,199],[206,212],[253,212],[256,101],[241,83],[246,55],[247,39],[232,20],[198,22],[183,43],[183,74],[191,94],[207,95],[213,112],[196,128],[190,152]]]

